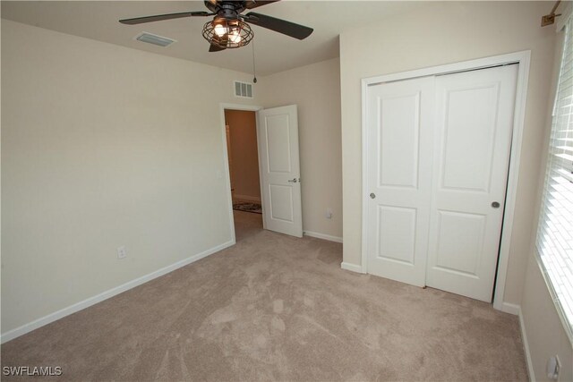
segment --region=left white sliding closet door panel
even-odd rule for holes
[[[367,272],[425,285],[434,78],[368,89]]]

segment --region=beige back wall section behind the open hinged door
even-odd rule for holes
[[[304,231],[341,237],[338,58],[264,77],[257,91],[262,106],[298,106]],[[331,219],[325,217],[327,208]]]

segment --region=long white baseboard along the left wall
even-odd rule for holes
[[[2,344],[4,344],[5,342],[13,340],[16,337],[19,337],[21,335],[25,335],[26,333],[30,333],[32,330],[38,329],[38,327],[43,327],[43,326],[45,326],[51,322],[54,322],[60,318],[64,318],[65,316],[69,316],[69,315],[75,313],[76,311],[86,309],[86,308],[90,307],[91,305],[94,305],[94,304],[97,304],[98,302],[107,300],[108,298],[114,297],[115,295],[117,295],[119,293],[124,293],[125,291],[128,291],[128,290],[130,290],[130,289],[132,289],[138,285],[147,283],[148,281],[151,281],[154,278],[158,278],[159,276],[163,276],[169,272],[173,272],[175,269],[178,269],[180,267],[184,267],[188,264],[191,264],[192,262],[206,258],[207,256],[209,256],[215,252],[218,252],[219,250],[224,250],[233,244],[235,244],[235,241],[224,242],[224,243],[219,244],[218,246],[213,247],[209,250],[204,250],[201,253],[193,255],[190,258],[183,259],[181,261],[177,261],[175,264],[171,264],[170,266],[167,266],[167,267],[162,267],[161,269],[158,269],[154,272],[151,272],[148,275],[138,277],[132,281],[129,281],[125,284],[121,284],[119,286],[115,286],[115,288],[109,289],[103,293],[99,293],[98,295],[90,297],[84,301],[76,302],[73,305],[70,305],[70,306],[68,306],[62,310],[57,310],[54,313],[48,314],[47,316],[35,319],[34,321],[29,322],[28,324],[24,324],[21,327],[16,327],[13,330],[10,330],[6,333],[3,333],[1,335],[2,339],[0,340],[0,342]]]

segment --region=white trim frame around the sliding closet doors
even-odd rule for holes
[[[369,86],[390,81],[410,80],[417,77],[443,75],[456,72],[467,72],[478,69],[487,69],[503,64],[518,64],[516,102],[514,108],[513,130],[511,137],[511,152],[509,155],[509,173],[506,189],[506,204],[503,212],[503,223],[500,237],[500,250],[498,253],[498,269],[495,277],[495,290],[493,293],[493,308],[517,314],[518,307],[515,304],[503,301],[505,282],[508,273],[509,248],[511,244],[511,232],[515,215],[517,176],[519,174],[519,162],[521,157],[523,128],[526,115],[527,79],[529,77],[529,63],[531,50],[524,50],[506,55],[493,55],[475,60],[462,61],[454,64],[444,64],[407,72],[397,72],[362,79],[362,265],[361,272],[368,272],[367,256],[367,225],[368,217],[368,128],[366,120],[366,98]]]

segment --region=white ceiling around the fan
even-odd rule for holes
[[[406,13],[417,2],[292,1],[267,4],[255,12],[314,29],[302,41],[252,26],[257,74],[264,76],[338,56],[342,30]],[[209,53],[201,36],[207,17],[124,25],[118,20],[160,13],[206,11],[202,1],[2,1],[2,18],[84,38],[133,47],[239,72],[252,72],[252,47]],[[156,47],[133,38],[146,31],[177,40]],[[251,43],[252,44],[252,43]]]

